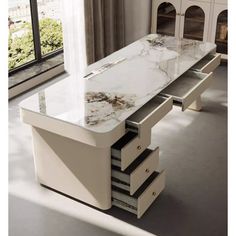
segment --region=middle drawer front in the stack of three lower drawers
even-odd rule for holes
[[[148,158],[141,163],[130,175],[130,194],[133,195],[136,190],[145,182],[145,180],[157,170],[159,165],[159,148],[156,148]]]

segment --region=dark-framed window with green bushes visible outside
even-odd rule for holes
[[[62,52],[60,0],[8,1],[9,73]]]

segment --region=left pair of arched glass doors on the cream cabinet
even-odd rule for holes
[[[211,9],[209,1],[153,0],[151,32],[207,41]],[[196,19],[193,18],[194,13]],[[200,33],[194,31],[192,25]]]

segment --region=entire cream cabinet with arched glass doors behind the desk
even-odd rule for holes
[[[153,0],[151,33],[217,44],[227,54],[227,0]]]

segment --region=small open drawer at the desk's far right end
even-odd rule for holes
[[[220,65],[220,60],[221,54],[208,54],[191,69],[202,73],[210,73]]]

